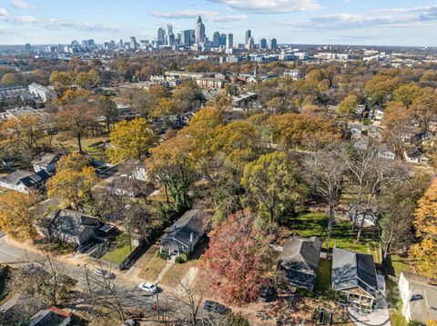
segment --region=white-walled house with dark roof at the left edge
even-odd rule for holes
[[[0,187],[12,189],[20,193],[29,193],[31,190],[42,189],[50,174],[46,171],[36,173],[16,170],[0,178]]]

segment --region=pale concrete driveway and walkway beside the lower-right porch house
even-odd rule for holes
[[[385,296],[384,276],[378,274],[378,288]],[[351,321],[357,326],[391,326],[390,313],[386,298],[381,297],[376,301],[376,309],[370,313],[355,310],[348,307],[348,313]]]

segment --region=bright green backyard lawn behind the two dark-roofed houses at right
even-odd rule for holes
[[[357,232],[351,232],[351,222],[337,222],[332,228],[330,242],[326,242],[328,216],[323,212],[302,212],[290,223],[290,230],[302,237],[317,236],[324,248],[337,247],[353,252],[371,253],[375,262],[381,262],[379,253],[379,232],[376,227],[361,232],[360,242],[355,242]]]

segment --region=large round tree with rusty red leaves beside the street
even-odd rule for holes
[[[273,267],[268,236],[254,225],[255,216],[237,212],[211,235],[204,272],[211,291],[227,302],[257,300]]]

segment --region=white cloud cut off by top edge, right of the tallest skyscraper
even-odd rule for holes
[[[286,14],[322,9],[316,0],[209,0],[246,13]]]

